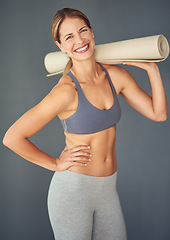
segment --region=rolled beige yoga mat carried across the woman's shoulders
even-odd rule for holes
[[[95,59],[104,64],[121,64],[123,61],[160,62],[169,55],[169,44],[164,35],[135,38],[95,46]],[[45,56],[47,76],[63,73],[69,60],[67,54],[57,51]]]

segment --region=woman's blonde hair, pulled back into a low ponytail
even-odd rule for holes
[[[87,24],[87,26],[91,29],[91,25],[90,25],[90,21],[89,19],[86,17],[86,15],[84,13],[82,13],[81,11],[77,10],[77,9],[73,9],[73,8],[63,8],[61,10],[59,10],[53,20],[52,20],[52,23],[51,23],[51,33],[52,33],[52,36],[53,36],[53,39],[54,39],[54,42],[59,42],[61,43],[60,41],[60,36],[59,36],[59,28],[60,28],[60,25],[61,23],[64,21],[64,19],[66,17],[78,17],[80,19],[83,19],[84,22]],[[65,69],[64,69],[64,73],[67,73],[70,68],[72,67],[72,60],[70,58],[70,60],[68,61]]]

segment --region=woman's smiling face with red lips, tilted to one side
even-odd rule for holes
[[[86,60],[92,57],[95,48],[93,31],[83,19],[65,18],[60,25],[60,42],[57,46],[74,60]]]

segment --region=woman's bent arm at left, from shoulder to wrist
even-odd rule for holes
[[[56,171],[56,159],[42,152],[28,138],[42,129],[61,111],[67,110],[74,97],[72,86],[58,84],[39,104],[21,116],[8,129],[3,144],[30,162]]]

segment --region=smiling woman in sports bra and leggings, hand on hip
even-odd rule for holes
[[[57,46],[68,54],[65,73],[51,92],[6,132],[4,144],[23,158],[55,171],[48,210],[55,239],[124,240],[125,222],[116,190],[116,124],[121,110],[117,95],[153,121],[165,121],[166,96],[156,63],[124,62],[147,71],[152,97],[121,66],[99,64],[87,17],[64,8],[52,21]],[[56,115],[66,147],[53,158],[28,138]]]

